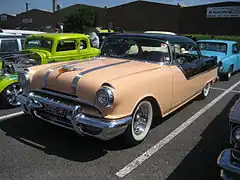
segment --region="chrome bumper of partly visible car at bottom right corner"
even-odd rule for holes
[[[218,157],[217,164],[222,169],[221,177],[224,180],[238,180],[239,179],[240,164],[232,161],[232,150],[231,149],[225,149],[224,151],[221,152],[221,154]]]

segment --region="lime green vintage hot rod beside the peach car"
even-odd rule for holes
[[[34,65],[88,60],[98,56],[99,49],[93,48],[86,35],[68,33],[46,33],[28,36],[24,50],[14,58],[0,62],[0,102],[3,107],[17,107],[16,100],[22,89],[18,86],[18,72]],[[1,58],[0,58],[1,59]]]

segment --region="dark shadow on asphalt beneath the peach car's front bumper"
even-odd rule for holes
[[[106,155],[108,150],[130,148],[124,146],[121,140],[104,142],[87,136],[82,137],[71,130],[26,115],[0,122],[0,129],[6,133],[6,136],[46,154],[77,162],[98,159]]]

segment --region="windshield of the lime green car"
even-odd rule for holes
[[[25,48],[40,48],[50,50],[52,48],[52,41],[49,39],[27,39]]]

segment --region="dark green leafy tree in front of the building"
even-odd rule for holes
[[[63,24],[64,32],[83,33],[96,26],[96,13],[93,8],[82,6],[74,13],[66,16]]]

